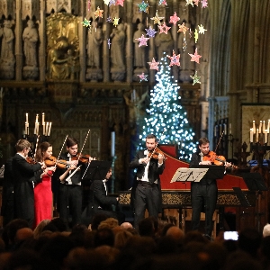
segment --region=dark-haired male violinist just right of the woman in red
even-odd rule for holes
[[[83,187],[81,183],[87,163],[84,163],[79,169],[78,165],[78,142],[75,138],[67,137],[67,152],[62,154],[59,159],[66,160],[67,166],[56,169],[53,176],[54,181],[58,182],[58,212],[59,217],[68,224],[68,217],[71,215],[71,228],[81,223]],[[89,157],[89,162],[91,157]],[[76,173],[68,177],[76,170]]]

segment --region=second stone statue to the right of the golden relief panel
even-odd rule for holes
[[[125,38],[124,25],[120,23],[117,28],[113,28],[110,35],[112,38],[111,45],[111,60],[112,68],[125,69],[124,56],[125,56]]]

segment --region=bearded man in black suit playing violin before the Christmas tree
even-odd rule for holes
[[[144,219],[148,209],[149,216],[157,218],[161,211],[161,187],[159,175],[162,175],[165,162],[164,156],[158,154],[157,158],[150,158],[153,150],[157,148],[157,137],[149,134],[146,138],[145,150],[139,150],[130,162],[130,168],[137,168],[137,174],[132,187],[135,219],[134,226],[138,229],[139,221]]]

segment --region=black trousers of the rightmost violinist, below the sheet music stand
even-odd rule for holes
[[[205,234],[211,236],[212,215],[216,209],[218,187],[216,180],[210,184],[192,183],[192,229],[199,229],[201,211],[205,211]]]

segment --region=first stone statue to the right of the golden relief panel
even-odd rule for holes
[[[93,26],[94,29],[94,26]],[[87,44],[87,66],[100,68],[101,44],[103,42],[103,31],[101,28],[96,28],[92,32],[88,31]]]

